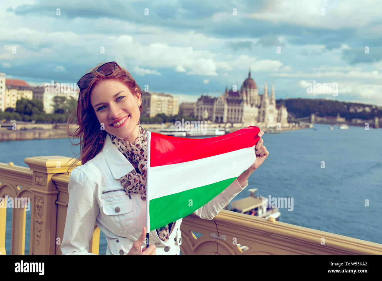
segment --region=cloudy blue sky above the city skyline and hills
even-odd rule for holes
[[[115,60],[142,89],[183,102],[240,88],[251,67],[259,93],[274,83],[276,99],[382,106],[381,11],[381,1],[350,0],[2,0],[0,72],[76,83]],[[338,83],[338,96],[307,93],[313,81]]]

